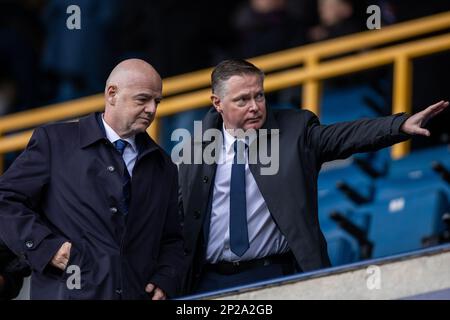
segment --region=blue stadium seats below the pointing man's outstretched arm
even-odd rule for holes
[[[333,265],[449,240],[450,148],[416,151],[374,176],[358,161],[319,175],[319,221]]]

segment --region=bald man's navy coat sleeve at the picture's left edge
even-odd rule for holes
[[[31,267],[43,272],[67,241],[52,232],[40,203],[50,180],[50,144],[44,128],[33,133],[25,151],[0,177],[0,234]]]

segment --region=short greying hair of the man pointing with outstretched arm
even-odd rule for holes
[[[264,72],[246,60],[225,60],[219,63],[211,73],[211,89],[213,94],[224,94],[225,82],[232,76],[257,75],[264,80]]]

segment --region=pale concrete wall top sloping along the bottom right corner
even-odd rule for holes
[[[450,247],[373,260],[319,276],[242,289],[213,299],[450,299]],[[440,295],[432,295],[440,292]]]

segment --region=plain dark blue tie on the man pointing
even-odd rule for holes
[[[230,249],[241,257],[249,246],[245,197],[245,147],[244,142],[236,140],[230,183]]]

